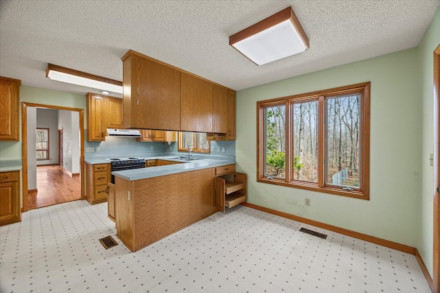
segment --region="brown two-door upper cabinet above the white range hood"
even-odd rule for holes
[[[122,99],[87,93],[87,140],[104,141],[107,128],[121,129]]]

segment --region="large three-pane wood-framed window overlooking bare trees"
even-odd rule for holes
[[[257,180],[369,199],[369,88],[257,102]]]

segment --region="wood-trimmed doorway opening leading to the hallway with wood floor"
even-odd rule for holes
[[[56,133],[52,138],[52,153],[50,160],[45,160],[45,164],[36,166],[36,158],[33,157],[36,152],[36,144],[32,140],[32,133],[35,132],[36,125],[33,122],[32,111],[36,109],[55,109],[63,110],[63,112],[72,115],[72,129],[67,131],[66,127],[58,127],[52,131]],[[23,158],[23,212],[38,208],[41,206],[49,206],[52,204],[60,204],[75,199],[85,199],[84,197],[84,109],[59,107],[54,105],[42,105],[29,102],[22,102],[22,158]],[[29,113],[28,113],[29,110]],[[35,116],[36,116],[36,110]],[[76,120],[73,117],[77,117]],[[31,121],[32,120],[32,121]],[[63,123],[61,123],[62,125]],[[61,131],[60,131],[61,130]],[[62,137],[60,138],[60,132]],[[29,135],[28,135],[29,134]],[[31,137],[31,139],[29,139]],[[73,138],[73,139],[72,139]],[[32,141],[31,141],[32,140]],[[63,140],[63,144],[59,144]],[[67,142],[66,142],[67,140]],[[68,144],[72,144],[72,140],[76,140],[77,153],[69,151],[69,161],[66,160],[63,153],[66,152]],[[49,143],[49,142],[48,142]],[[60,152],[62,149],[62,152]],[[58,154],[56,154],[58,151]],[[50,151],[49,151],[50,153]],[[60,160],[60,157],[63,157]],[[35,158],[35,160],[34,160]],[[72,159],[74,158],[74,159]],[[78,159],[79,158],[79,159]],[[66,164],[69,164],[66,168]],[[60,165],[62,164],[62,166]],[[72,166],[76,164],[76,167]],[[36,186],[30,186],[31,180],[36,180]],[[29,189],[31,187],[31,189]],[[36,193],[36,194],[34,194]]]

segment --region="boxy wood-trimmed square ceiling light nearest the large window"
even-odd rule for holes
[[[292,7],[229,37],[229,45],[256,65],[263,65],[309,49],[305,34]]]

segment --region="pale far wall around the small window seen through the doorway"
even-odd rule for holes
[[[58,110],[55,109],[36,109],[36,124],[34,127],[28,128],[28,132],[34,131],[36,128],[49,129],[49,160],[38,160],[37,166],[58,164]],[[31,144],[28,145],[28,147]],[[33,144],[35,150],[35,144]],[[28,159],[29,160],[29,159]]]

